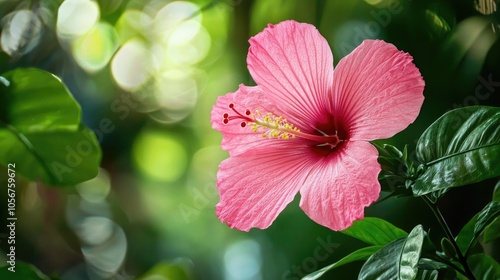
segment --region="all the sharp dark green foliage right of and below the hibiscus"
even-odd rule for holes
[[[383,169],[380,176],[383,189],[385,186],[385,190],[392,191],[389,197],[404,195],[411,186],[415,196],[425,195],[424,200],[442,220],[435,203],[448,188],[500,175],[500,164],[496,162],[500,158],[500,109],[476,106],[444,114],[420,137],[417,143],[420,162],[416,164],[408,161],[406,147],[400,151],[390,145],[374,145],[379,151],[378,160]],[[387,187],[384,182],[389,180],[395,184]],[[494,200],[499,196],[498,189],[497,185]],[[365,218],[356,221],[343,233],[370,245],[385,245],[365,262],[359,279],[454,279],[455,269],[471,276],[471,269],[490,263],[484,254],[475,255],[475,260],[471,260],[472,268],[469,268],[467,257],[483,232],[485,242],[499,237],[499,213],[500,202],[493,201],[474,216],[456,238],[445,229],[447,237],[441,239],[442,252],[436,252],[430,240],[424,238],[422,226],[415,227],[407,236],[403,230],[384,220]],[[441,224],[447,227],[444,220]],[[424,246],[424,241],[430,244]],[[420,259],[423,251],[431,258]],[[325,267],[311,274],[314,278],[310,279],[316,279],[336,266],[337,263]],[[485,275],[490,277],[491,273]]]

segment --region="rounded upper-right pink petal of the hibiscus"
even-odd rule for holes
[[[424,80],[412,57],[381,40],[365,40],[334,74],[334,112],[352,140],[389,138],[418,116]]]

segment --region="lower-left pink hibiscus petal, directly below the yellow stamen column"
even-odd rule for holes
[[[294,141],[290,147],[289,141]],[[269,143],[269,142],[268,142]],[[267,228],[288,205],[311,167],[299,139],[247,151],[224,160],[217,173],[216,213],[231,228]]]

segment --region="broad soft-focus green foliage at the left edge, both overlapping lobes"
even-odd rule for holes
[[[101,148],[81,123],[81,109],[54,75],[17,68],[2,75],[0,163],[51,186],[74,185],[97,175]]]

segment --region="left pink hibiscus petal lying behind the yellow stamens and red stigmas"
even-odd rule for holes
[[[241,120],[231,120],[227,124],[223,123],[225,113],[236,115],[229,108],[229,104],[234,104],[235,110],[244,114],[247,109],[252,113],[260,110],[262,113],[272,112],[279,115],[276,106],[267,101],[266,96],[258,87],[247,87],[240,85],[234,93],[220,96],[215,106],[212,108],[210,121],[212,128],[222,133],[221,147],[228,151],[231,156],[243,153],[249,149],[254,149],[262,145],[262,142],[280,141],[279,139],[267,139],[260,133],[252,131],[250,126],[241,127]]]

